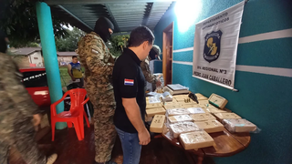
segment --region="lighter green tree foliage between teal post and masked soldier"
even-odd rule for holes
[[[73,27],[73,30],[67,29],[68,36],[56,38],[56,47],[57,51],[60,52],[72,52],[78,48],[78,41],[81,36],[85,36],[85,32],[78,29],[77,27]]]

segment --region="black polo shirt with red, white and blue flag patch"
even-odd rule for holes
[[[114,124],[117,128],[128,132],[137,133],[136,128],[130,123],[121,98],[136,97],[140,107],[141,118],[145,120],[146,98],[145,98],[145,77],[140,67],[141,61],[130,49],[124,49],[122,55],[117,59],[113,68],[113,89],[117,108],[114,115]]]

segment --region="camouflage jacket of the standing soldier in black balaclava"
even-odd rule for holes
[[[99,87],[103,89],[112,89],[112,69],[114,66],[114,57],[111,56],[109,48],[104,41],[94,32],[83,36],[78,42],[77,53],[80,62],[85,67],[86,87],[94,89]]]

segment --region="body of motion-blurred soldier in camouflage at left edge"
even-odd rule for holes
[[[37,149],[35,126],[40,123],[40,111],[20,82],[22,74],[12,58],[0,53],[0,163],[7,163],[9,147],[13,146],[27,164],[52,164],[57,154],[48,159]]]

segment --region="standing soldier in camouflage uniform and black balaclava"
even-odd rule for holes
[[[109,19],[100,17],[94,32],[80,39],[77,51],[85,67],[85,88],[94,108],[95,161],[107,164],[114,163],[110,159],[117,136],[113,125],[116,102],[111,84],[114,57],[105,45],[113,29]]]

